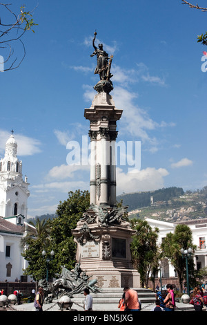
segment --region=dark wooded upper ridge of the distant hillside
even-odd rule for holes
[[[173,198],[179,198],[181,195],[184,195],[184,190],[181,187],[168,187],[150,192],[121,194],[117,196],[117,201],[123,200],[123,205],[128,205],[128,211],[132,211],[141,207],[149,207],[151,205],[151,197],[155,203],[157,201],[168,202]]]

